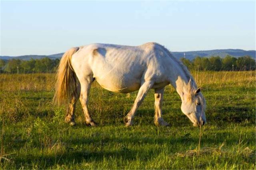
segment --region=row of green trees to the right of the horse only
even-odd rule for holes
[[[235,58],[227,55],[224,58],[220,57],[196,57],[192,61],[181,58],[182,63],[187,66],[189,70],[211,70],[211,71],[247,71],[255,70],[255,60],[246,55],[244,57]]]

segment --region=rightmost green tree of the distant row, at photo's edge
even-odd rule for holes
[[[248,55],[244,57],[239,57],[236,60],[236,67],[240,71],[255,70],[255,64],[255,60]]]

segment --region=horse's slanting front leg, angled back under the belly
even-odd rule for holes
[[[140,86],[139,92],[137,94],[137,97],[134,101],[134,104],[132,106],[132,109],[129,111],[129,113],[124,117],[124,123],[126,126],[131,126],[133,123],[134,115],[136,113],[136,110],[144,100],[146,94],[148,93],[148,90],[153,86],[154,82],[147,81]]]

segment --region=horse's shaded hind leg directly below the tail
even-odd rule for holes
[[[75,109],[76,109],[76,102],[80,96],[80,84],[78,84],[77,86],[77,96],[75,94],[72,95],[72,99],[70,100],[69,106],[68,106],[68,110],[67,110],[67,114],[65,117],[65,121],[66,123],[70,123],[71,126],[76,125],[76,121],[75,121]]]

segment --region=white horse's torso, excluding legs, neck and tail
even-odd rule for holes
[[[132,92],[138,90],[146,78],[162,79],[160,74],[164,74],[164,70],[160,68],[162,61],[157,51],[154,43],[140,46],[92,44],[80,47],[73,57],[76,58],[74,63],[79,63],[77,70],[90,72],[107,90]]]

